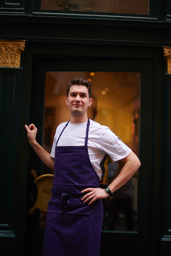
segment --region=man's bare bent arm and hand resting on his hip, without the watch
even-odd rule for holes
[[[133,152],[131,152],[127,157],[125,157],[121,161],[125,163],[124,167],[122,168],[120,174],[116,177],[116,179],[114,179],[114,181],[112,181],[112,183],[110,183],[110,185],[108,186],[112,193],[118,190],[120,187],[122,187],[127,181],[129,181],[129,179],[131,179],[134,173],[141,166],[138,157]],[[97,199],[103,199],[109,196],[109,194],[105,192],[104,189],[100,188],[87,188],[81,192],[89,192],[82,197],[82,201],[84,201],[84,203],[91,200],[89,202],[89,205],[95,202],[95,200]]]

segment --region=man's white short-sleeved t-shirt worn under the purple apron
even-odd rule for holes
[[[102,169],[100,163],[107,153],[112,160],[118,161],[129,155],[131,149],[127,147],[107,126],[90,120],[88,132],[88,153],[91,165],[101,180]],[[55,158],[56,142],[67,122],[61,123],[57,129],[51,149],[51,157]],[[57,146],[84,146],[87,122],[68,123],[64,129]]]

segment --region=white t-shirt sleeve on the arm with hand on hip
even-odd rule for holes
[[[99,146],[114,162],[125,158],[132,151],[108,127],[105,127],[101,134]]]

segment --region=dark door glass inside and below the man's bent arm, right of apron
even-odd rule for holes
[[[123,163],[113,162],[108,156],[107,164],[106,178],[108,178],[107,184],[110,184],[122,169]],[[138,173],[115,191],[112,197],[106,199],[104,230],[137,231],[137,180]]]

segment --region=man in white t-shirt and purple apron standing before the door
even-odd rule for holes
[[[99,256],[103,206],[101,199],[124,185],[141,165],[137,156],[106,126],[89,120],[91,83],[76,77],[67,87],[70,121],[56,130],[51,155],[36,142],[36,127],[27,129],[32,148],[55,169],[48,204],[43,256]],[[99,188],[105,155],[124,167],[106,188]]]

